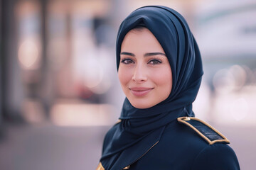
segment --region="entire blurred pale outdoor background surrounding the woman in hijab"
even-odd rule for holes
[[[0,169],[96,168],[124,101],[117,29],[152,4],[188,21],[205,72],[194,112],[228,137],[241,169],[254,169],[255,0],[0,2]]]

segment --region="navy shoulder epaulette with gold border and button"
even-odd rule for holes
[[[210,145],[213,145],[215,142],[230,143],[224,135],[203,120],[193,117],[181,117],[177,120],[179,123],[188,125],[188,127],[195,130]]]

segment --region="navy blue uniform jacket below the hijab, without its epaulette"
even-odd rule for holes
[[[103,149],[117,125],[107,132]],[[227,144],[215,142],[210,145],[195,130],[174,121],[166,126],[159,142],[124,169],[237,170],[240,167],[235,152]]]

